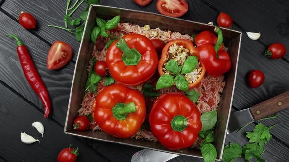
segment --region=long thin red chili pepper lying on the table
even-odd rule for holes
[[[19,38],[16,35],[7,34],[6,36],[7,37],[10,36],[17,41],[17,53],[19,61],[22,66],[22,70],[24,72],[26,80],[29,82],[32,89],[35,91],[35,93],[42,101],[44,106],[44,118],[47,118],[51,112],[51,102],[49,99],[47,89],[35,68],[31,56],[26,46],[19,40]]]

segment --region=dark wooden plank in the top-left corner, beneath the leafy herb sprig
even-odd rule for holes
[[[76,0],[72,0],[71,6],[74,1]],[[85,7],[86,2],[73,13],[72,19],[79,16]],[[75,35],[61,29],[47,26],[65,26],[63,18],[66,10],[66,0],[53,0],[53,2],[50,0],[6,0],[1,8],[11,15],[14,20],[18,20],[16,10],[31,13],[37,20],[37,28],[36,30],[31,30],[31,32],[42,37],[50,44],[54,41],[65,41],[70,44],[74,53],[72,60],[76,61],[80,43],[76,40]],[[48,53],[48,51],[45,53]]]

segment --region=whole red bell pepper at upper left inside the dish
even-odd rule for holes
[[[106,53],[111,76],[125,85],[139,85],[150,79],[158,67],[153,43],[140,34],[127,34],[113,42]]]

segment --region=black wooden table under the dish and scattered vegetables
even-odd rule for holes
[[[72,0],[72,3],[75,0]],[[289,50],[289,0],[187,0],[189,11],[182,19],[217,24],[220,11],[231,15],[233,29],[243,33],[239,57],[238,75],[234,94],[233,111],[253,106],[289,90],[289,53],[278,60],[264,56],[270,43],[281,42]],[[158,13],[157,0],[145,7],[133,0],[102,0],[102,5],[143,10]],[[140,148],[114,143],[100,142],[74,137],[63,133],[72,76],[79,48],[74,35],[47,25],[64,26],[63,18],[66,0],[0,0],[0,162],[52,162],[57,160],[60,150],[72,144],[79,147],[78,162],[129,162]],[[85,3],[73,14],[78,16]],[[18,23],[16,10],[29,12],[37,20],[36,30],[25,30]],[[261,32],[257,41],[250,40],[245,31]],[[7,33],[20,36],[27,45],[41,78],[48,88],[53,113],[43,118],[43,106],[37,95],[25,80],[16,52],[16,43],[5,37]],[[48,70],[46,58],[54,41],[65,41],[73,48],[73,58],[60,70]],[[265,82],[259,88],[251,89],[246,84],[246,74],[253,69],[262,70]],[[279,118],[262,121],[265,125],[287,121],[289,110],[279,113]],[[31,127],[34,121],[45,126],[44,136]],[[246,131],[252,131],[251,124],[241,133],[231,133],[226,143],[247,143]],[[265,145],[263,158],[268,162],[289,161],[289,122],[271,129],[272,140]],[[20,132],[26,132],[40,144],[23,144]],[[179,156],[171,162],[198,162],[202,159]],[[236,161],[244,161],[242,159]]]

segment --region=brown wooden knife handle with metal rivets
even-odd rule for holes
[[[251,114],[258,120],[287,108],[289,108],[289,91],[251,107]]]

